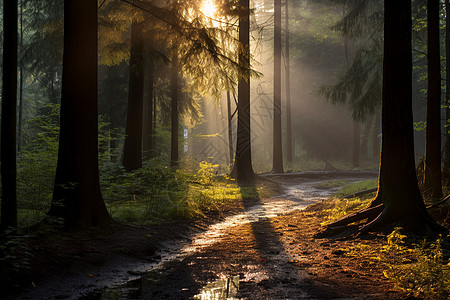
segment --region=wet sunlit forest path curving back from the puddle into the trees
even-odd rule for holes
[[[339,272],[333,274],[338,275],[334,287],[315,280],[313,276],[319,272],[309,260],[318,258],[320,264],[325,260],[336,268],[341,265],[329,261],[327,255],[332,255],[332,247],[326,243],[323,247],[319,244],[323,241],[312,237],[320,226],[317,220],[299,214],[299,210],[335,192],[336,188],[327,188],[325,182],[360,181],[376,178],[376,173],[311,172],[265,177],[280,183],[285,193],[244,201],[242,213],[192,236],[181,250],[168,245],[172,250],[166,248],[161,253],[162,261],[151,270],[118,288],[97,291],[89,299],[396,298],[389,289],[379,291],[378,280],[370,280],[376,288],[367,289],[361,288],[364,283],[358,281],[349,289],[352,283],[339,282],[349,281],[348,274]],[[327,268],[333,272],[332,265],[322,267],[325,277]]]

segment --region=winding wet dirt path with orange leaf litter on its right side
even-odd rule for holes
[[[17,299],[402,299],[382,270],[342,254],[361,240],[316,238],[322,208],[304,210],[335,191],[327,182],[376,175],[264,175],[284,193],[244,199],[240,210],[211,225],[130,228],[71,245],[63,257],[58,249],[58,261],[71,264],[67,273],[35,281],[37,287]],[[158,251],[148,254],[154,246]]]

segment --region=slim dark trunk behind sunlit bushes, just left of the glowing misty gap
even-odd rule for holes
[[[170,142],[170,166],[178,166],[178,102],[179,102],[179,75],[178,75],[178,57],[174,55],[172,61],[172,74],[171,74],[171,142]]]

